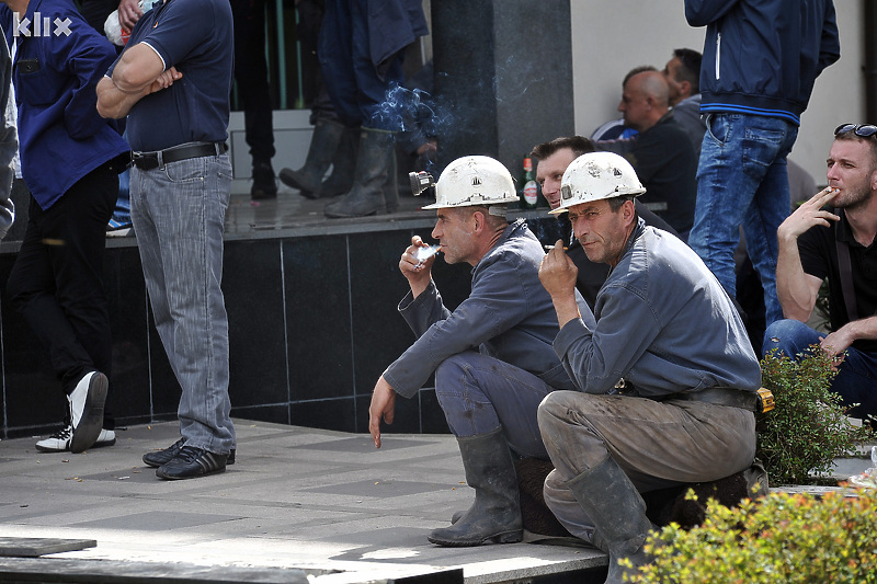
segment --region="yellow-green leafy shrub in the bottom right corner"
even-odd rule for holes
[[[649,539],[654,559],[633,582],[877,582],[877,492],[856,493],[772,493],[737,508],[710,501],[701,527],[671,524]]]

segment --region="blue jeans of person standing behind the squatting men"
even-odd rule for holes
[[[788,217],[786,157],[797,126],[779,118],[711,114],[697,168],[697,205],[688,245],[733,298],[740,226],[761,276],[767,324],[783,318],[776,297],[776,229]]]

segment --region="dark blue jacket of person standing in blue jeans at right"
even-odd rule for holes
[[[832,0],[685,0],[706,26],[701,112],[781,117],[799,125],[816,78],[841,57]]]

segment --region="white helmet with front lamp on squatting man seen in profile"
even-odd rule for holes
[[[509,170],[490,157],[458,158],[435,183],[435,203],[424,209],[508,205],[517,201]]]

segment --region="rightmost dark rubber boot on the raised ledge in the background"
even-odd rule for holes
[[[366,217],[385,210],[384,183],[392,161],[392,133],[362,128],[353,188],[326,206],[327,217]]]

